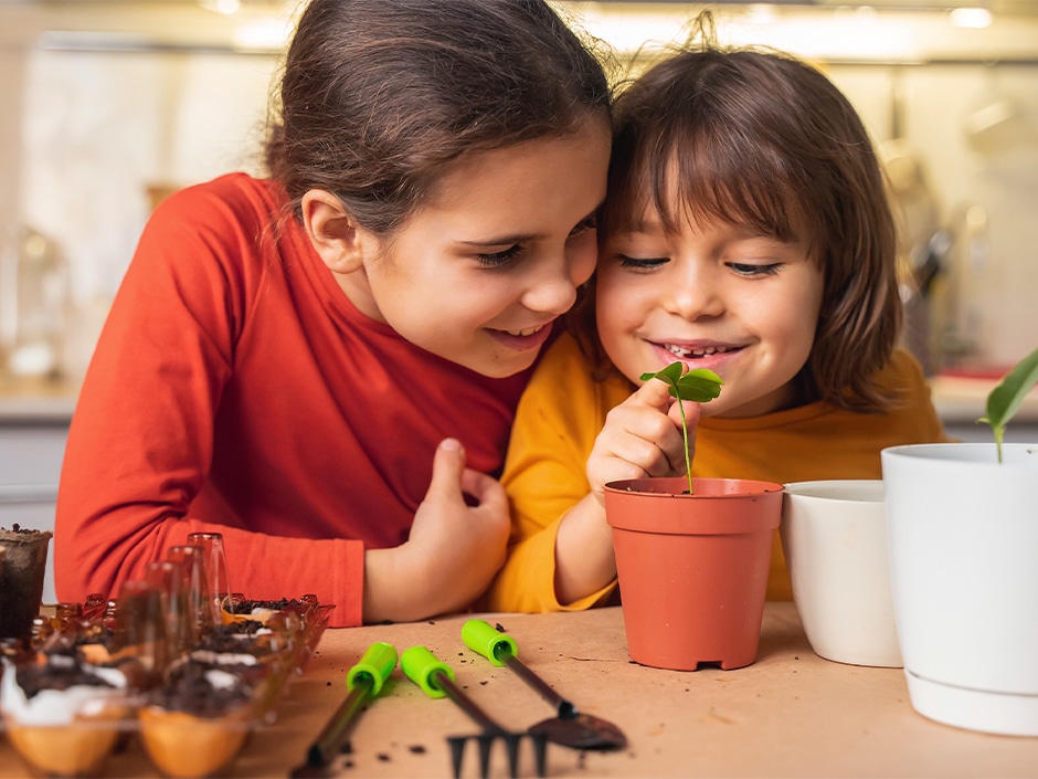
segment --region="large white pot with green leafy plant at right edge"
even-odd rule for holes
[[[1038,349],[992,391],[995,442],[883,450],[890,576],[912,706],[1038,736],[1038,442],[1003,442]]]

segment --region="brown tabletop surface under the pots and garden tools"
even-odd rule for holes
[[[345,697],[347,669],[373,641],[402,652],[424,644],[451,663],[459,685],[502,725],[521,729],[551,708],[507,667],[460,640],[465,618],[329,630],[305,674],[253,734],[237,777],[286,777]],[[548,748],[550,777],[1038,777],[1038,738],[992,736],[917,714],[898,669],[841,665],[815,655],[792,603],[769,603],[756,663],[734,671],[674,672],[633,664],[618,608],[580,613],[497,614],[520,657],[578,707],[618,725],[627,749]],[[360,718],[338,776],[449,777],[446,737],[476,726],[451,701],[424,696],[400,671]],[[534,776],[521,754],[522,776]],[[6,743],[0,777],[24,769]],[[113,756],[108,777],[157,776],[136,741]],[[475,750],[463,776],[478,776]],[[507,776],[495,750],[491,776]]]

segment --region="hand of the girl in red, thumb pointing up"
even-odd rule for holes
[[[464,609],[504,565],[509,530],[505,488],[465,467],[459,442],[441,442],[407,540],[364,555],[364,622],[412,621]]]

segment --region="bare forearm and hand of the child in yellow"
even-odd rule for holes
[[[686,402],[690,433],[699,404]],[[690,436],[689,448],[695,448]],[[559,526],[555,539],[555,594],[569,603],[605,587],[616,577],[612,531],[605,519],[608,482],[685,473],[680,414],[661,381],[647,381],[612,409],[587,459],[591,492]]]

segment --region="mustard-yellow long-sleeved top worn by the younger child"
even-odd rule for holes
[[[544,355],[519,402],[501,476],[512,513],[510,549],[481,609],[575,611],[604,601],[615,588],[614,580],[573,603],[559,603],[554,592],[559,524],[591,491],[585,466],[606,413],[634,391],[623,377],[597,382],[591,372],[576,343],[562,336]],[[900,399],[885,414],[816,402],[762,417],[702,418],[692,475],[781,484],[880,478],[882,449],[949,440],[922,370],[909,352],[897,350],[881,378],[885,386],[898,389]],[[777,533],[767,597],[792,597]]]

